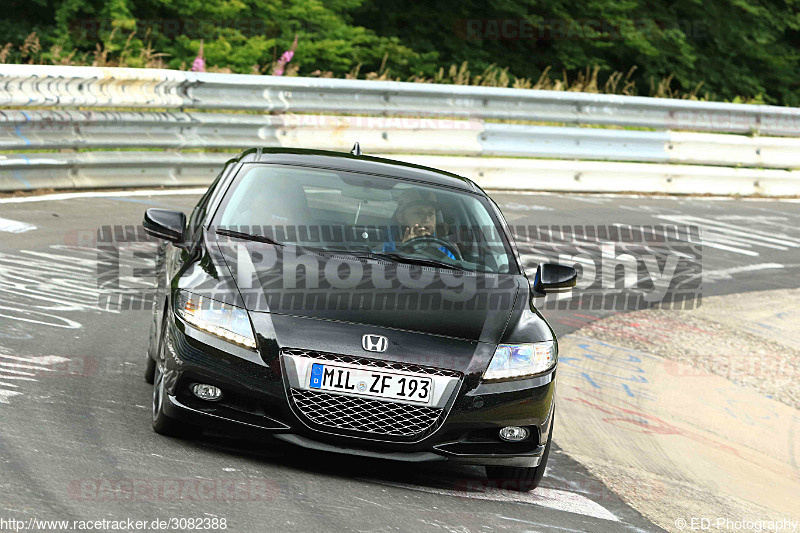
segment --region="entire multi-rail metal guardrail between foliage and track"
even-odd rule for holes
[[[131,181],[137,172],[124,161],[140,171],[148,169],[148,183],[152,176],[161,176],[162,184],[203,183],[214,174],[205,165],[211,168],[229,155],[175,151],[251,146],[343,150],[359,140],[369,153],[449,156],[440,161],[448,170],[484,168],[476,176],[484,185],[487,172],[517,176],[515,184],[493,178],[504,188],[641,190],[646,183],[643,192],[800,194],[795,171],[800,168],[800,109],[795,108],[32,65],[0,65],[0,106],[5,107],[0,109],[0,150],[10,152],[0,155],[0,190],[59,187],[58,172],[66,173],[63,187],[137,184]],[[643,127],[655,131],[630,129]],[[125,151],[26,155],[35,150],[120,149]],[[129,151],[137,149],[168,152],[141,156]],[[567,162],[571,178],[538,183],[520,174],[516,158],[525,158],[521,161],[531,173],[550,171],[551,178],[562,175],[555,169]],[[598,169],[612,175],[603,174],[605,182],[587,179],[587,172],[597,174]],[[115,185],[96,181],[112,171],[118,176]],[[632,177],[631,171],[642,177]],[[727,189],[724,182],[730,185]]]

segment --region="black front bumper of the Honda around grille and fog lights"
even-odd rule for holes
[[[551,431],[555,369],[499,383],[463,375],[441,423],[419,440],[398,441],[309,425],[289,399],[276,346],[274,355],[265,356],[264,350],[239,348],[172,317],[166,348],[165,414],[226,435],[273,437],[305,449],[396,461],[535,467]],[[224,397],[200,400],[190,392],[193,383],[216,385]],[[501,441],[498,432],[504,426],[527,427],[531,436],[519,443]]]

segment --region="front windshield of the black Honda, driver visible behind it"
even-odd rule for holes
[[[383,176],[246,165],[214,225],[282,245],[518,273],[485,198]]]

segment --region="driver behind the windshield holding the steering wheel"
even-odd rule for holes
[[[389,228],[383,251],[396,251],[398,240],[399,246],[402,246],[403,243],[419,237],[435,237],[438,206],[433,193],[423,193],[417,189],[405,191],[397,202],[397,209],[392,217],[395,224]],[[445,246],[437,246],[436,249],[450,259],[456,258]]]

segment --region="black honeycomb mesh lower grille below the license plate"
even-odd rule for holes
[[[410,439],[429,432],[442,414],[434,407],[299,389],[290,393],[309,421],[336,430]]]

